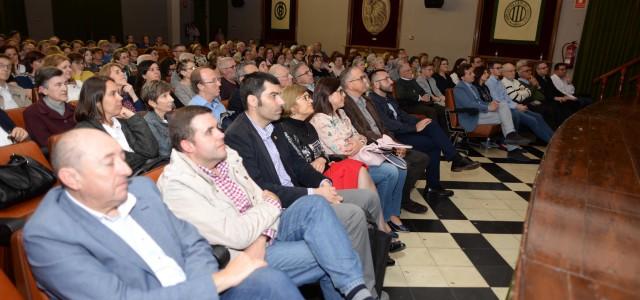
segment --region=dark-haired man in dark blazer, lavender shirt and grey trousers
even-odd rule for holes
[[[240,97],[246,111],[225,131],[225,143],[243,159],[249,175],[261,188],[274,192],[284,208],[310,194],[329,201],[362,261],[365,285],[376,297],[371,248],[363,210],[380,214],[374,192],[363,189],[336,191],[331,181],[302,159],[284,137],[279,124],[284,101],[280,83],[267,73],[245,76]]]

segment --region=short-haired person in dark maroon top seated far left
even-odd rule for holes
[[[36,73],[40,101],[24,111],[24,122],[31,138],[46,149],[49,137],[73,129],[75,108],[67,103],[66,79],[55,67],[43,67]],[[49,149],[51,150],[51,149]]]

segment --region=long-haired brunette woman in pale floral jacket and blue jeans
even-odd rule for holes
[[[315,114],[309,122],[318,132],[327,154],[354,157],[367,144],[367,138],[356,131],[342,110],[345,97],[338,79],[319,80],[313,93]],[[385,161],[379,166],[370,165],[369,174],[380,195],[384,220],[397,231],[408,231],[400,220],[402,188],[407,171]]]

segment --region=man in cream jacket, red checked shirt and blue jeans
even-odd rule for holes
[[[227,246],[232,256],[253,253],[296,285],[320,281],[325,299],[371,296],[328,202],[304,196],[282,211],[278,196],[251,180],[238,153],[225,146],[208,108],[180,109],[170,126],[175,150],[158,187],[177,217],[210,244]]]

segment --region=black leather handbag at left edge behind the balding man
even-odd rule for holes
[[[56,178],[39,162],[12,154],[6,165],[0,166],[0,209],[44,194]]]

